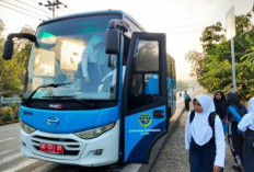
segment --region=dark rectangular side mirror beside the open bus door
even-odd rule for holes
[[[120,53],[120,31],[107,28],[106,31],[106,54],[118,55]]]

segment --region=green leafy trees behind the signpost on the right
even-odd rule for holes
[[[254,25],[252,14],[235,16],[234,37],[238,92],[244,99],[254,95]],[[232,90],[231,43],[224,37],[220,23],[204,28],[200,37],[204,53],[195,50],[186,55],[192,62],[192,77],[209,92]]]

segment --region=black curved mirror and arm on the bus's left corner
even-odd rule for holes
[[[9,34],[7,37],[7,41],[4,42],[4,47],[2,51],[2,58],[4,60],[10,60],[12,58],[13,54],[13,41],[12,38],[18,37],[18,38],[26,38],[30,39],[31,42],[36,42],[35,35],[28,34],[28,33],[13,33]]]

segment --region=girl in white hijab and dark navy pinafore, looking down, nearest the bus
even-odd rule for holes
[[[215,104],[210,96],[201,94],[193,101],[185,125],[185,148],[189,150],[190,172],[221,172],[224,167],[226,145],[218,115],[210,125]],[[194,116],[193,116],[193,115]]]

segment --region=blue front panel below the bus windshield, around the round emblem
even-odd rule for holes
[[[24,111],[33,113],[33,115],[24,115]],[[59,124],[56,127],[47,124],[47,118],[50,116],[56,116],[59,119]],[[91,111],[53,111],[21,106],[20,118],[37,130],[71,134],[116,122],[119,119],[119,106]]]

